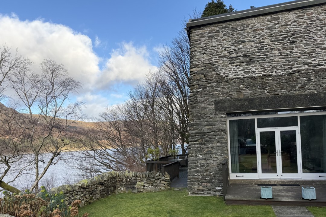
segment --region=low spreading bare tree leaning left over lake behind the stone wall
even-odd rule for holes
[[[126,132],[123,105],[107,108],[85,129],[85,139],[75,159],[83,174],[96,175],[110,170],[143,171],[139,139]]]

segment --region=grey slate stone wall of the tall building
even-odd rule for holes
[[[228,156],[226,112],[247,108],[237,99],[257,98],[254,102],[264,104],[275,95],[300,100],[319,94],[312,97],[320,99],[315,104],[326,105],[326,6],[190,31],[188,191],[221,194],[221,162]],[[289,97],[280,97],[274,109]]]

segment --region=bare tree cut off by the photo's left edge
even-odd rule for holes
[[[8,46],[0,47],[0,100],[4,98],[4,91],[9,84],[8,79],[22,67],[31,63],[28,59],[19,56],[17,49],[16,54],[12,55]],[[26,169],[26,165],[22,163],[26,138],[22,123],[23,118],[18,112],[0,103],[0,187],[16,193],[19,190],[8,183],[15,181]],[[12,175],[13,167],[17,162],[20,162],[22,167],[14,168],[14,175]],[[3,179],[8,174],[12,175],[12,179],[5,183]]]

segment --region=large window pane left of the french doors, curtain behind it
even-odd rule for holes
[[[257,173],[255,119],[229,121],[231,172]]]

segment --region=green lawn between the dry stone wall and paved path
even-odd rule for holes
[[[186,191],[125,193],[102,198],[80,209],[90,217],[275,217],[270,206],[226,206],[222,197],[188,196]]]

